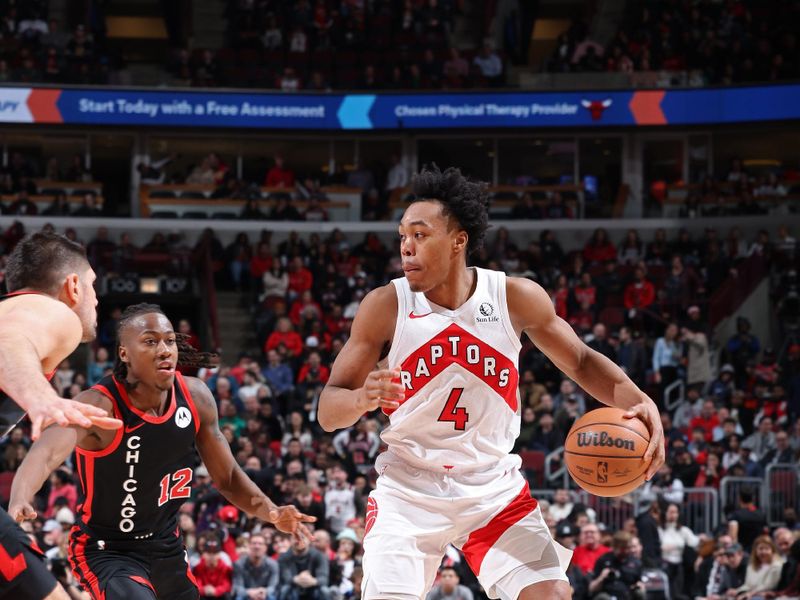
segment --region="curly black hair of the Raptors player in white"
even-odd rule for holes
[[[487,187],[484,182],[468,180],[454,167],[442,172],[435,164],[426,165],[411,179],[412,202],[439,202],[444,216],[452,216],[467,232],[467,253],[472,254],[483,246],[489,229]]]

